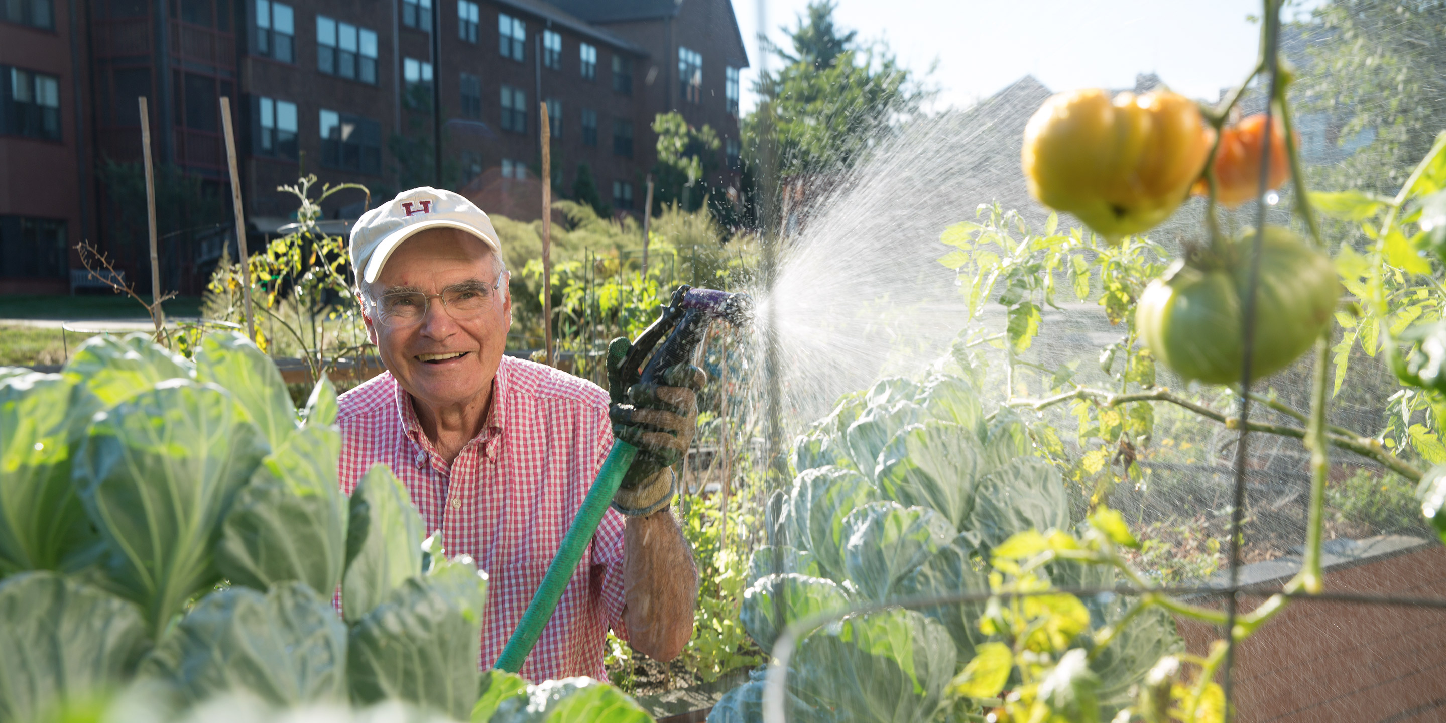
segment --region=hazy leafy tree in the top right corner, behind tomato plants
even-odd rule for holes
[[[1301,110],[1343,121],[1340,139],[1374,133],[1322,181],[1394,192],[1446,129],[1446,1],[1330,0],[1299,30]]]

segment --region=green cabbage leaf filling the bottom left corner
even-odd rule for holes
[[[0,720],[120,685],[146,649],[136,607],[54,573],[0,583]]]

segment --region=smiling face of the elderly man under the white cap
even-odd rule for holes
[[[419,406],[437,412],[486,402],[512,324],[506,276],[492,289],[500,270],[500,260],[476,236],[429,228],[402,241],[372,283],[375,302],[396,292],[429,296],[421,318],[409,322],[383,322],[377,307],[364,305],[367,333],[382,363]],[[434,296],[458,285],[477,285],[487,292],[480,312],[455,318]]]

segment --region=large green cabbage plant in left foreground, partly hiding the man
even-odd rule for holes
[[[0,722],[648,720],[482,677],[486,574],[385,466],[341,493],[335,415],[239,334],[0,370]]]

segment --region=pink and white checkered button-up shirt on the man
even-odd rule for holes
[[[412,495],[448,555],[487,573],[483,668],[502,654],[613,445],[607,393],[544,364],[502,357],[483,431],[448,469],[422,434],[411,396],[390,373],[341,395],[341,489],[350,495],[376,463]],[[532,681],[606,680],[607,628],[623,612],[623,516],[609,509],[557,612],[522,667]]]

